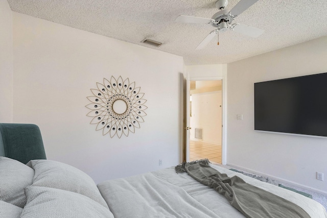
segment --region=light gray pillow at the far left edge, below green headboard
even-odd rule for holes
[[[32,184],[34,170],[18,160],[0,157],[0,200],[23,208],[24,188]]]

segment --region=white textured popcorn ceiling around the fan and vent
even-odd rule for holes
[[[247,0],[243,0],[247,1]],[[327,35],[326,0],[259,0],[235,22],[264,29],[258,38],[219,34],[203,50],[195,47],[215,30],[178,23],[179,15],[211,18],[215,0],[8,0],[12,11],[179,55],[186,65],[229,63]],[[229,0],[231,10],[239,0]],[[144,44],[144,38],[162,42]]]

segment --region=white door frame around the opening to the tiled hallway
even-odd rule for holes
[[[221,162],[223,165],[227,164],[227,78],[226,77],[192,77],[190,78],[189,74],[186,74],[185,77],[185,95],[189,95],[190,98],[190,82],[191,81],[211,81],[211,80],[221,80],[222,81],[222,134],[221,134]],[[186,96],[185,96],[186,98]],[[189,111],[189,100],[185,99],[185,125],[184,128],[189,127],[190,125],[190,111]],[[189,131],[184,129],[186,136],[186,148],[185,154],[186,161],[190,161],[190,134]]]

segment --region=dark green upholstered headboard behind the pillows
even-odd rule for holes
[[[0,124],[0,154],[27,163],[46,159],[41,131],[34,124]]]

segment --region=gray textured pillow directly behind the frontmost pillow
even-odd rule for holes
[[[31,160],[27,163],[35,171],[31,186],[58,188],[84,195],[108,208],[96,183],[79,169],[53,160]]]

